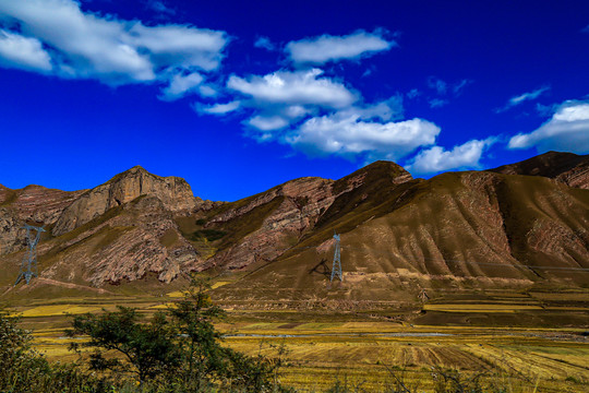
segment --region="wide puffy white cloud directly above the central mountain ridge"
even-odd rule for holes
[[[365,121],[362,110],[347,110],[306,120],[286,142],[309,155],[358,155],[398,159],[433,144],[440,128],[423,119]]]

